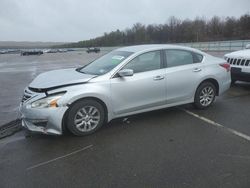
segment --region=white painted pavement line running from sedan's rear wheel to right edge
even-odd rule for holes
[[[250,141],[250,136],[248,136],[248,135],[246,135],[246,134],[243,134],[243,133],[238,132],[238,131],[236,131],[236,130],[234,130],[234,129],[225,127],[225,126],[223,126],[223,125],[221,125],[221,124],[219,124],[219,123],[216,123],[215,121],[212,121],[212,120],[210,120],[210,119],[208,119],[208,118],[205,118],[205,117],[203,117],[203,116],[200,116],[200,115],[198,115],[198,114],[195,114],[195,113],[193,113],[193,112],[191,112],[191,111],[189,111],[189,110],[186,110],[186,109],[181,109],[181,110],[183,110],[183,111],[186,112],[187,114],[189,114],[189,115],[191,115],[191,116],[194,116],[194,117],[196,117],[196,118],[198,118],[198,119],[201,119],[201,120],[203,120],[203,121],[205,121],[205,122],[207,122],[207,123],[209,123],[209,124],[211,124],[211,125],[213,125],[213,126],[223,128],[223,129],[225,129],[226,131],[228,131],[228,132],[230,132],[230,133],[232,133],[232,134],[234,134],[234,135],[237,135],[237,136],[239,136],[239,137],[241,137],[241,138],[243,138],[243,139],[245,139],[245,140],[247,140],[247,141]]]

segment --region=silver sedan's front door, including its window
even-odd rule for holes
[[[129,77],[115,76],[110,81],[113,111],[116,115],[166,103],[165,69],[161,51],[138,55],[122,69],[132,69],[134,74]]]

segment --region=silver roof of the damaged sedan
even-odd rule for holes
[[[170,45],[170,44],[145,44],[145,45],[136,45],[136,46],[127,46],[116,49],[117,51],[128,51],[128,52],[142,52],[146,50],[160,50],[160,49],[180,49],[180,50],[189,50],[197,53],[202,53],[202,51],[189,48],[181,45]]]

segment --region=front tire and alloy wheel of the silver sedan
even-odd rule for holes
[[[70,107],[66,125],[74,135],[84,136],[96,132],[104,124],[104,119],[103,106],[95,100],[86,99]]]

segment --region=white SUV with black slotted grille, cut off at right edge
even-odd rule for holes
[[[232,83],[250,81],[250,49],[228,53],[224,57],[231,65]]]

